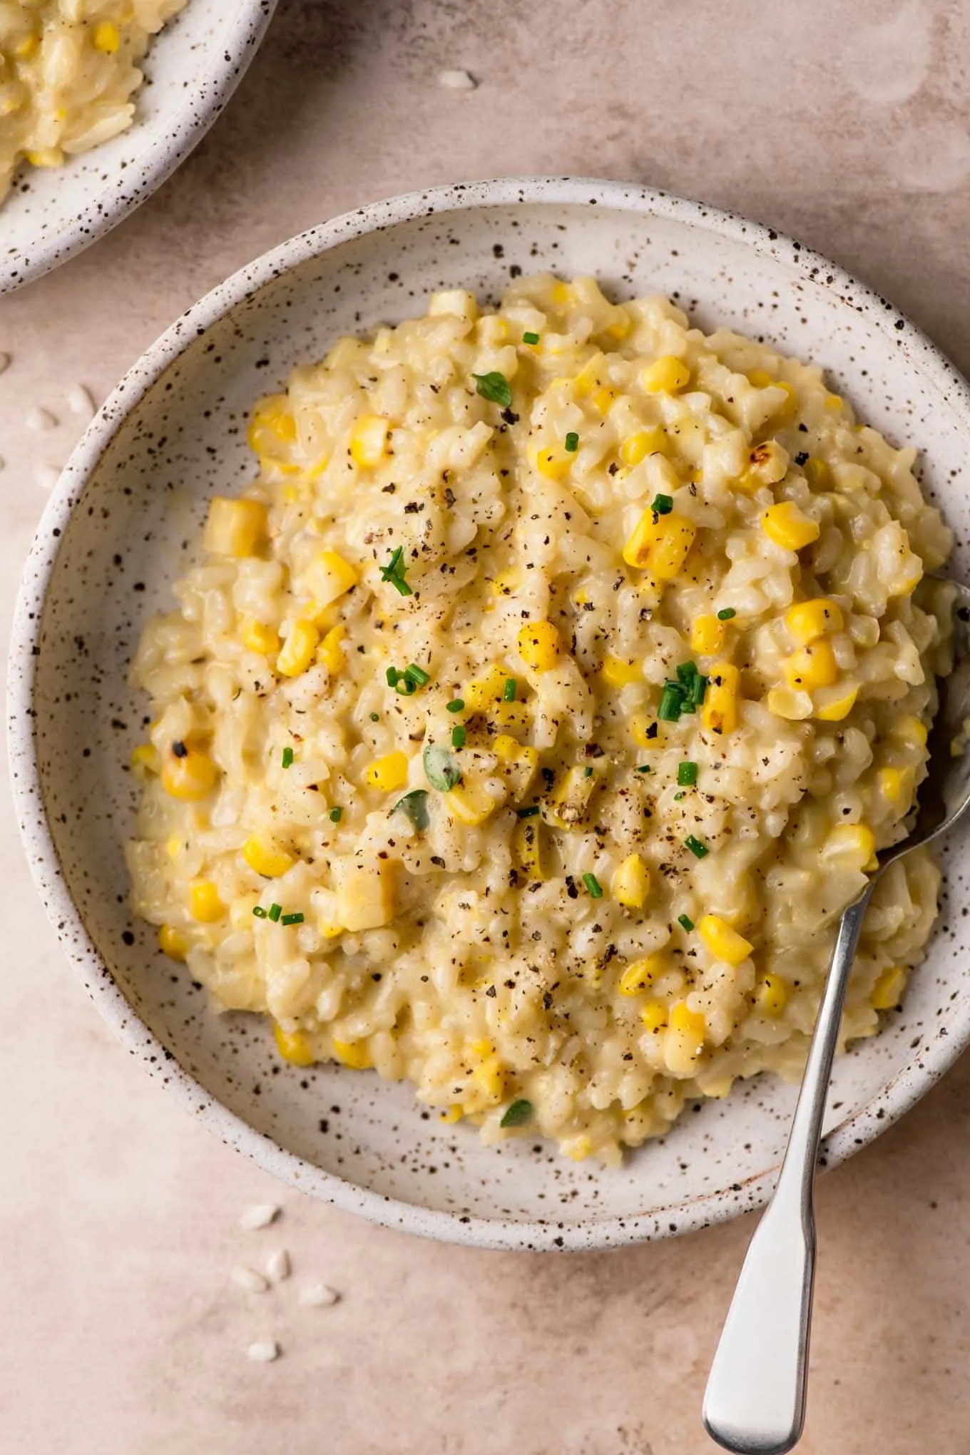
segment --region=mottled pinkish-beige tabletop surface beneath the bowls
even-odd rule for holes
[[[227,0],[228,3],[228,0]],[[270,244],[429,182],[646,180],[794,231],[970,370],[970,10],[921,0],[281,0],[227,113],[105,242],[0,300],[3,621],[38,464]],[[467,67],[474,93],[441,90]],[[0,237],[3,223],[0,218]],[[58,428],[25,428],[33,403]],[[926,441],[932,445],[932,441]],[[423,1244],[300,1200],[111,1040],[0,829],[0,1455],[695,1455],[750,1224],[605,1256]],[[970,1064],[819,1192],[806,1455],[970,1445]],[[254,1200],[278,1225],[241,1232]],[[289,1248],[262,1298],[233,1264]],[[321,1277],[337,1305],[302,1310]],[[284,1358],[253,1365],[253,1339]]]

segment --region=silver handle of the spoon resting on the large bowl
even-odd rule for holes
[[[804,1423],[814,1167],[845,986],[873,883],[842,915],[785,1158],[750,1240],[707,1381],[704,1424],[736,1455],[784,1455]]]

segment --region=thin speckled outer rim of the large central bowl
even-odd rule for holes
[[[163,370],[196,336],[284,272],[346,240],[420,217],[515,204],[599,205],[668,220],[686,221],[750,246],[755,253],[794,265],[807,281],[830,287],[848,307],[874,322],[887,340],[903,346],[921,372],[950,396],[970,435],[970,386],[955,367],[905,314],[838,265],[795,239],[752,223],[736,212],[688,201],[669,192],[589,178],[499,178],[452,183],[371,202],[298,233],[240,268],[193,304],[132,365],[105,402],[74,448],[44,509],[28,556],[10,634],[7,665],[7,735],[15,809],[31,874],[55,933],[90,998],[118,1039],[143,1056],[151,1075],[161,1077],[176,1099],[224,1142],[246,1152],[289,1186],[384,1224],[444,1241],[483,1248],[590,1250],[650,1241],[689,1232],[762,1206],[774,1187],[777,1167],[743,1183],[704,1193],[662,1209],[631,1216],[583,1219],[576,1224],[465,1216],[422,1208],[359,1187],[305,1163],[257,1132],[199,1085],[167,1052],[125,1000],[97,953],[61,874],[44,812],[36,744],[33,687],[42,607],[54,570],[61,531],[103,451]],[[926,1039],[919,1053],[852,1116],[823,1139],[820,1165],[835,1167],[896,1122],[950,1068],[970,1042],[970,1017],[963,1026]]]

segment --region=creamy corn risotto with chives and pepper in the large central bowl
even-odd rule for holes
[[[339,339],[250,442],[134,662],[163,952],[490,1142],[615,1161],[797,1074],[950,668],[915,451],[813,365],[550,275]],[[938,882],[878,885],[843,1042]]]

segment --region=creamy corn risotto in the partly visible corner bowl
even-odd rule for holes
[[[0,201],[131,125],[151,36],[186,0],[0,0]]]

